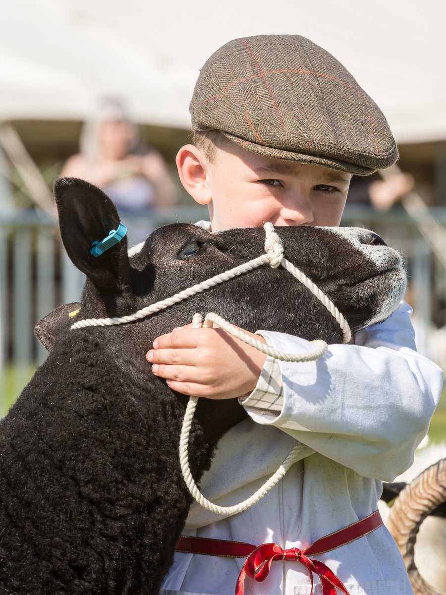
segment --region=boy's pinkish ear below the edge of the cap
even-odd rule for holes
[[[181,184],[199,205],[208,205],[212,201],[208,185],[209,163],[202,151],[194,145],[184,145],[175,161]]]

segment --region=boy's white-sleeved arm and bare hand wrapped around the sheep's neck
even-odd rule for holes
[[[198,225],[208,226],[205,222]],[[283,392],[280,410],[277,406],[270,408],[274,396],[258,400],[260,390],[239,401],[258,424],[285,431],[363,477],[392,481],[412,464],[414,450],[428,431],[442,387],[442,370],[416,352],[411,314],[412,308],[401,302],[390,318],[356,333],[354,345],[330,345],[326,355],[316,362],[276,362]],[[190,333],[190,328],[178,330],[186,331],[182,336]],[[228,346],[234,341],[231,337],[225,343],[224,331],[213,338],[217,332],[212,329],[194,332],[203,337],[206,355],[199,356],[199,350],[189,349],[192,359],[187,363],[191,365],[183,368],[189,375],[186,380],[194,381],[175,378],[170,383],[172,389],[211,398],[240,397],[246,393],[246,382],[240,381],[243,375],[251,375],[254,380],[250,390],[255,387],[262,364],[252,358],[252,352],[255,356],[262,353],[239,342],[237,349],[230,349],[228,354]],[[277,350],[305,353],[314,349],[312,343],[299,337],[259,332]],[[169,342],[171,336],[158,339]],[[177,347],[165,351],[180,355],[181,347],[186,345],[181,345],[180,339]],[[263,378],[269,377],[268,365],[271,361],[263,366]],[[174,378],[168,368],[175,366],[164,366],[161,376]],[[188,392],[191,387],[193,392]],[[220,447],[224,447],[223,442]]]

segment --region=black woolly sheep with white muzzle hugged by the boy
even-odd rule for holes
[[[327,342],[342,342],[342,333],[309,290],[268,265],[150,318],[70,330],[79,319],[131,314],[261,255],[265,232],[176,224],[153,232],[130,262],[125,238],[94,258],[92,242],[119,224],[113,203],[73,179],[59,180],[55,196],[62,240],[87,282],[80,305],[37,325],[48,359],[1,421],[0,593],[156,594],[191,497],[178,461],[187,397],[151,373],[145,352],[153,339],[208,311],[250,331]],[[378,236],[278,231],[287,258],[331,297],[353,332],[390,315],[404,274]],[[72,320],[68,312],[79,306]],[[236,399],[200,399],[190,439],[196,480],[219,437],[244,417]]]

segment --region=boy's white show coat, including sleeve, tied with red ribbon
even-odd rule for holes
[[[381,481],[413,461],[442,387],[442,371],[415,350],[412,310],[401,302],[387,321],[356,333],[354,345],[331,345],[316,362],[280,362],[284,405],[279,415],[247,407],[249,418],[218,444],[202,493],[219,505],[250,496],[296,440],[316,453],[247,511],[225,518],[194,503],[185,535],[309,546],[377,508]],[[298,337],[262,331],[284,352],[314,349]],[[350,595],[412,593],[400,553],[385,527],[317,556]],[[233,595],[243,559],[176,553],[161,595]],[[319,595],[315,578],[313,590]],[[245,595],[309,595],[299,562],[275,561],[263,583],[246,579]]]

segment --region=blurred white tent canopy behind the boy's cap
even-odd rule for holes
[[[199,68],[222,43],[299,33],[378,102],[399,142],[446,139],[442,0],[0,2],[0,120],[89,117],[127,100],[142,123],[189,128]]]

